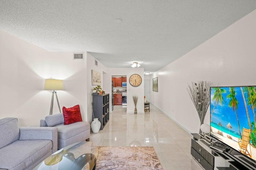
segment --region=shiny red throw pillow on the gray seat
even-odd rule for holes
[[[64,116],[64,125],[82,121],[79,105],[76,105],[70,108],[66,108],[63,106],[62,111]]]

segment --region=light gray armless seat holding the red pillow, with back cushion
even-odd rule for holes
[[[62,149],[73,143],[89,141],[90,123],[79,121],[64,125],[64,116],[62,113],[48,115],[40,120],[40,127],[58,128],[58,149]]]

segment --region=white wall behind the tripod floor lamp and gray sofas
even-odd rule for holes
[[[87,121],[86,60],[73,60],[72,53],[52,53],[0,31],[0,119],[17,117],[20,126],[39,126],[49,115],[51,91],[44,89],[46,78],[64,80],[58,91],[60,107],[80,105]],[[56,98],[54,111],[58,113]]]

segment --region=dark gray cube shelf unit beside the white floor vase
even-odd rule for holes
[[[109,121],[109,94],[93,95],[92,110],[94,117],[99,119],[101,123],[100,130],[102,130]]]

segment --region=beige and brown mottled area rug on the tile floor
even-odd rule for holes
[[[99,147],[96,170],[162,170],[154,147]]]

